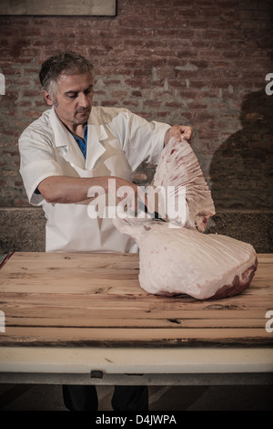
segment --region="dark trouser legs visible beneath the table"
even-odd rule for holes
[[[64,385],[63,396],[70,411],[97,411],[96,386]],[[112,407],[114,411],[147,411],[147,386],[115,386]]]

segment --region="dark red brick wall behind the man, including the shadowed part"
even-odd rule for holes
[[[191,124],[217,208],[210,230],[272,251],[272,17],[270,0],[118,0],[115,17],[0,16],[2,248],[35,248],[44,227],[25,197],[17,139],[46,109],[41,63],[69,48],[95,65],[96,104]],[[153,171],[142,165],[137,183]]]

